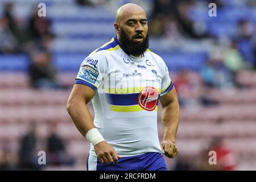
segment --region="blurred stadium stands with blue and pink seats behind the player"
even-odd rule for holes
[[[166,61],[179,94],[180,152],[165,158],[168,167],[256,169],[254,0],[40,2],[0,1],[0,169],[86,169],[89,143],[65,104],[81,61],[114,36],[115,11],[127,2],[146,10],[150,49]],[[211,2],[216,17],[208,15]],[[158,124],[162,140],[160,115]],[[212,150],[217,165],[208,164]]]

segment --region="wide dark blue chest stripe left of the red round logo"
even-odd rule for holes
[[[138,104],[139,93],[131,94],[109,94],[106,93],[106,96],[109,98],[109,104],[118,105],[118,106],[129,106]]]

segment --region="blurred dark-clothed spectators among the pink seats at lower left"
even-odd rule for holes
[[[28,131],[19,139],[18,153],[9,151],[5,143],[0,150],[1,170],[42,170],[47,166],[73,166],[76,159],[67,151],[67,142],[57,133],[58,122],[48,121],[48,135],[42,138],[38,133],[36,122],[28,127]],[[46,165],[39,164],[38,151],[45,152]]]

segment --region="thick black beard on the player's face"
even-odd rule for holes
[[[134,42],[133,39],[142,34],[136,34],[132,39],[123,31],[120,30],[119,45],[127,55],[139,56],[142,55],[149,46],[148,32],[146,37],[143,38],[142,42]]]

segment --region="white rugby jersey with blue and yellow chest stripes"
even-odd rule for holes
[[[94,125],[120,156],[160,152],[158,100],[173,84],[162,58],[127,55],[117,36],[82,61],[75,84],[95,90]],[[90,155],[96,156],[91,144]]]

